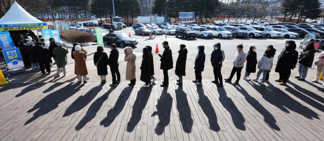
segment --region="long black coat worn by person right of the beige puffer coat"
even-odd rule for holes
[[[151,80],[150,75],[150,54],[143,54],[142,64],[141,64],[141,81],[148,83]]]

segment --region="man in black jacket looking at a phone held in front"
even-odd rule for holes
[[[169,46],[168,41],[164,41],[162,43],[164,52],[163,54],[158,54],[161,59],[161,65],[160,69],[163,69],[163,75],[164,75],[164,81],[162,82],[161,87],[165,87],[169,85],[169,75],[168,75],[168,70],[173,68],[173,58],[172,58],[172,50]]]

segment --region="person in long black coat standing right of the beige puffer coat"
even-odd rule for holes
[[[142,64],[141,64],[141,81],[145,82],[143,85],[144,88],[149,87],[149,82],[151,80],[151,75],[150,75],[150,57],[151,54],[148,52],[148,48],[144,47],[143,48],[143,59],[142,59]]]

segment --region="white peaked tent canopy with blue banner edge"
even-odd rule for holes
[[[0,31],[26,29],[47,29],[47,27],[45,22],[31,16],[15,1],[5,16],[0,19]]]

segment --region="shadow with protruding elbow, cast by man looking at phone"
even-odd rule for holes
[[[151,116],[158,115],[159,122],[156,124],[155,133],[161,135],[164,132],[164,128],[170,123],[170,114],[173,103],[173,98],[167,93],[168,87],[164,87],[162,94],[157,99],[156,109]]]

